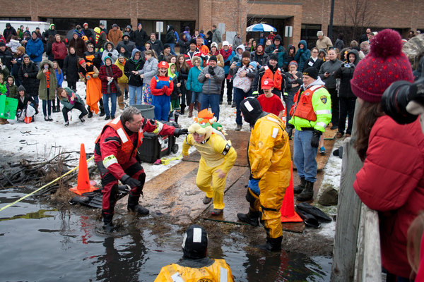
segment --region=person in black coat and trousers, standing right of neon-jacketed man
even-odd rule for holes
[[[344,135],[346,128],[346,117],[348,118],[348,128],[346,129],[346,137],[351,136],[353,115],[355,114],[356,96],[351,90],[351,79],[353,71],[359,63],[359,53],[355,49],[348,51],[348,60],[343,62],[334,73],[336,78],[340,78],[340,89],[338,90],[338,104],[340,107],[340,118],[338,119],[338,132],[336,138]]]

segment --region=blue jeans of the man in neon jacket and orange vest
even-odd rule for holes
[[[309,182],[317,181],[317,150],[311,146],[312,130],[295,130],[293,140],[293,161],[300,178]]]

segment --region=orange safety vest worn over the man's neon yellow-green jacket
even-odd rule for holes
[[[302,90],[302,87],[300,87],[293,98],[294,103],[290,109],[290,116],[298,116],[299,118],[305,118],[308,121],[317,121],[317,114],[315,114],[314,107],[312,105],[312,96],[315,91],[322,87],[324,86],[314,85],[303,92],[300,92]]]

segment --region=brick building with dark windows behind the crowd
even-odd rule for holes
[[[424,30],[424,17],[419,16],[424,10],[422,4],[422,0],[335,0],[333,35],[345,32],[358,39],[355,37],[364,33],[365,27],[372,30],[390,27],[406,37],[408,30]],[[165,27],[174,25],[178,32],[185,26],[192,32],[194,29],[206,32],[215,23],[224,37],[227,34],[232,41],[234,32],[242,31],[245,36],[248,25],[268,23],[277,28],[287,45],[301,38],[314,42],[318,30],[327,33],[331,0],[28,0],[25,3],[0,0],[0,6],[0,20],[49,21],[63,34],[84,22],[93,28],[99,20],[107,20],[107,28],[112,23],[122,28],[131,23],[135,29],[137,23],[142,23],[146,32],[155,31],[157,21],[163,21]],[[285,26],[293,27],[292,37],[284,37]],[[353,30],[355,35],[351,34]],[[166,28],[163,37],[165,32]],[[259,37],[259,33],[248,35],[251,36]]]

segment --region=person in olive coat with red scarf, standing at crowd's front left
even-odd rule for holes
[[[38,97],[42,100],[42,114],[45,121],[53,121],[52,119],[52,100],[55,99],[57,79],[53,68],[53,63],[49,60],[43,60],[40,63],[40,71],[37,74],[37,80],[40,80],[38,87]]]

